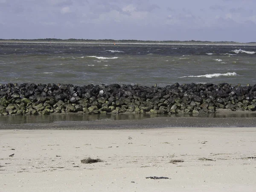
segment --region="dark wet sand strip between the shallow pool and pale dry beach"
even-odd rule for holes
[[[149,119],[100,119],[94,121],[53,121],[41,123],[0,124],[0,129],[54,129],[54,130],[88,130],[88,129],[150,129],[167,127],[256,127],[256,117],[240,118],[205,118],[205,117],[157,117]]]

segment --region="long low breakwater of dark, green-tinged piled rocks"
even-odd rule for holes
[[[3,84],[1,115],[50,113],[214,113],[256,110],[256,84],[172,84],[145,87],[125,84]]]

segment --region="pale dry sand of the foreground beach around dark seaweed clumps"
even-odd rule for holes
[[[0,130],[0,192],[253,192],[255,158],[256,128],[14,127]]]

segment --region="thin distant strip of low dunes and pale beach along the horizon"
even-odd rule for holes
[[[109,42],[109,41],[100,41],[100,42],[75,42],[75,41],[12,41],[12,40],[1,40],[0,43],[10,43],[10,44],[115,44],[115,45],[215,45],[215,46],[256,46],[256,43],[237,43],[237,42],[202,42],[202,41],[149,41],[149,42]]]

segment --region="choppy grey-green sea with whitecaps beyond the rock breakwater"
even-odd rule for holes
[[[0,44],[0,84],[256,84],[256,47]]]

